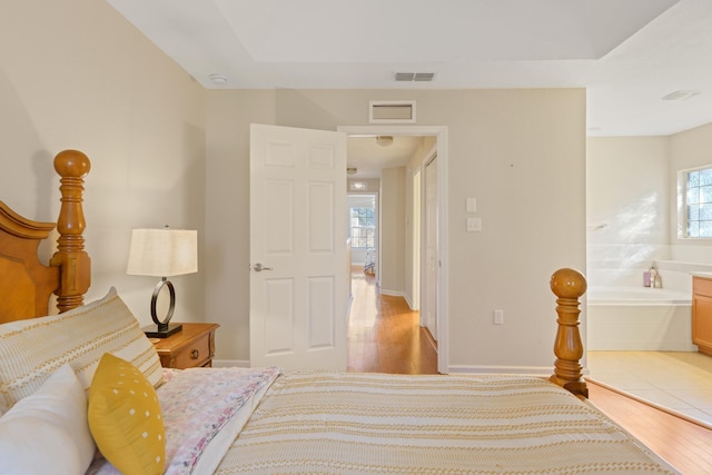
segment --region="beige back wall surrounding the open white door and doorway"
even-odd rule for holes
[[[563,90],[210,91],[206,318],[218,359],[248,348],[248,125],[367,125],[368,101],[415,99],[418,126],[448,128],[445,291],[453,369],[551,367],[554,270],[585,268],[585,92]],[[465,231],[477,198],[483,232]],[[492,324],[504,309],[505,325]]]

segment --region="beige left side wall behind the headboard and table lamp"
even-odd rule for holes
[[[205,239],[205,90],[105,1],[3,2],[0,58],[0,199],[56,220],[52,159],[87,154],[88,300],[116,286],[149,324],[157,279],[126,275],[130,229]],[[176,319],[202,319],[204,275],[174,279]]]

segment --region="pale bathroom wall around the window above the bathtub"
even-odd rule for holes
[[[711,148],[712,123],[669,137],[589,138],[590,284],[640,286],[655,263],[666,287],[689,290],[685,266],[712,265],[709,239],[678,235],[678,174],[711,166]]]

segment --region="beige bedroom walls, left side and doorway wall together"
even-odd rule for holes
[[[53,220],[51,159],[85,151],[89,297],[115,285],[142,323],[154,280],[125,275],[130,229],[198,229],[200,271],[174,279],[176,318],[219,323],[226,360],[249,355],[249,123],[335,130],[367,125],[369,100],[416,100],[417,126],[448,128],[449,364],[551,367],[548,278],[585,266],[584,90],[205,91],[91,0],[4,3],[0,57],[1,199]],[[482,232],[465,231],[467,197]]]

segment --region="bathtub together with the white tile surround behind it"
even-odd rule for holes
[[[589,245],[587,349],[696,352],[692,344],[692,276],[712,275],[708,248]],[[643,286],[643,273],[653,266],[662,288]]]

